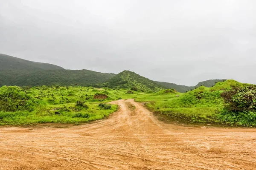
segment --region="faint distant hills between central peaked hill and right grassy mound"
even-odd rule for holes
[[[225,79],[211,79],[211,80],[206,80],[203,82],[199,82],[195,86],[186,86],[186,85],[177,85],[175,83],[169,83],[169,82],[157,82],[157,84],[163,86],[164,88],[174,88],[175,90],[179,91],[180,93],[185,93],[186,91],[190,91],[192,89],[198,88],[199,86],[203,85],[205,87],[212,87],[213,85],[216,84],[216,82],[223,82]]]

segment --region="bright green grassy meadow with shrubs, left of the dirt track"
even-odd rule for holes
[[[117,105],[106,102],[136,98],[143,95],[141,93],[133,91],[133,94],[127,94],[127,90],[81,86],[3,86],[0,88],[0,125],[89,122],[102,119],[117,110]],[[95,94],[107,94],[109,97],[94,99]]]

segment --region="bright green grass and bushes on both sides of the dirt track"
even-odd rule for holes
[[[227,80],[187,93],[175,89],[141,90],[139,85],[128,89],[3,86],[0,88],[0,125],[88,122],[116,111],[117,106],[107,102],[133,98],[181,122],[256,126],[256,85]]]

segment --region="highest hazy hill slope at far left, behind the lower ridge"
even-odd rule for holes
[[[0,70],[61,70],[57,65],[32,62],[5,54],[0,54]]]

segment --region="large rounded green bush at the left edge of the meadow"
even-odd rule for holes
[[[33,111],[38,100],[17,86],[0,88],[0,111]]]

